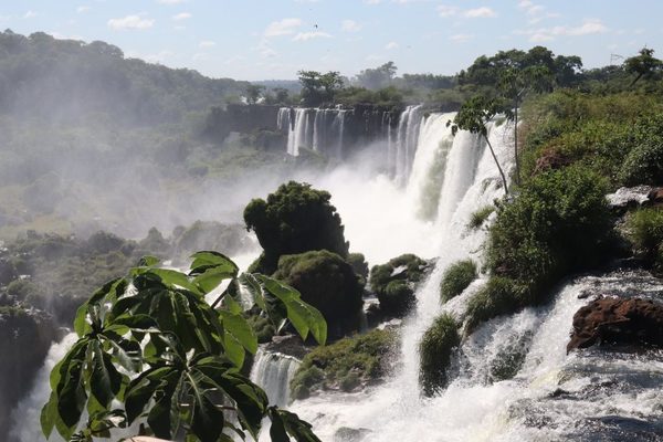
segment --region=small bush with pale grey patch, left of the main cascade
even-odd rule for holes
[[[414,291],[430,264],[413,254],[403,254],[370,271],[370,286],[378,295],[380,309],[402,317],[414,306]]]

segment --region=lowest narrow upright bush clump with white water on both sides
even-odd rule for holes
[[[449,381],[446,369],[451,354],[461,344],[459,326],[449,314],[442,314],[419,343],[419,382],[425,396],[433,396]]]

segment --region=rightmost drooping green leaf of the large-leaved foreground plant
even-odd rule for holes
[[[327,323],[322,313],[301,299],[302,295],[295,288],[265,275],[256,275],[265,290],[276,296],[287,309],[287,318],[293,326],[306,339],[308,332],[315,340],[324,345],[327,340]]]

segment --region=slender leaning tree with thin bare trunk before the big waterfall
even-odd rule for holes
[[[488,149],[491,149],[491,155],[495,160],[495,165],[497,166],[497,170],[499,171],[499,176],[502,177],[504,194],[508,194],[506,176],[502,170],[502,166],[499,166],[499,160],[495,155],[495,150],[493,149],[491,140],[488,139],[488,129],[486,128],[486,124],[503,108],[504,105],[496,98],[486,98],[482,95],[475,95],[463,104],[453,122],[446,122],[446,126],[451,126],[451,133],[454,136],[459,129],[461,129],[469,130],[472,134],[480,134],[485,139],[486,144],[488,145]]]

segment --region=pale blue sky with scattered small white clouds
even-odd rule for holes
[[[663,1],[22,0],[0,29],[103,40],[127,56],[213,77],[351,76],[393,61],[399,73],[453,74],[482,54],[543,44],[588,67],[646,45],[663,56]],[[615,59],[613,59],[615,60]]]

